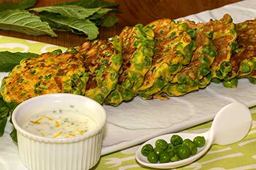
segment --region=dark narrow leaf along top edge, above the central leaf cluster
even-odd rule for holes
[[[110,3],[103,0],[82,0],[82,1],[74,1],[74,2],[65,2],[59,3],[56,6],[65,6],[65,5],[77,5],[83,8],[109,8],[109,7],[116,7],[118,6],[117,3]]]

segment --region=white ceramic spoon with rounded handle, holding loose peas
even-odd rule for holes
[[[250,110],[244,104],[231,103],[223,107],[217,113],[209,131],[201,134],[172,133],[155,137],[146,141],[140,146],[140,148],[136,152],[136,160],[144,166],[161,169],[184,166],[204,155],[205,152],[208,151],[208,149],[210,148],[211,144],[226,145],[243,139],[250,129],[251,121],[252,119]],[[183,140],[188,138],[192,141],[196,136],[204,136],[205,145],[202,148],[198,148],[198,152],[196,155],[190,156],[187,159],[179,160],[177,162],[150,163],[147,161],[147,157],[141,154],[141,149],[145,144],[152,144],[155,148],[155,142],[157,139],[164,139],[169,142],[170,138],[174,134],[181,136]]]

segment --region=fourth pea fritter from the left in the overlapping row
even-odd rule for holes
[[[163,95],[156,95],[167,84],[172,75],[179,72],[183,65],[189,63],[196,48],[195,30],[189,29],[184,21],[164,18],[147,25],[155,32],[155,54],[152,57],[151,69],[146,73],[138,94],[142,99],[158,98],[165,100]]]

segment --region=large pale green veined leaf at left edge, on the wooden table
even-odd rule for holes
[[[57,35],[53,32],[47,22],[25,10],[6,10],[0,12],[0,29],[11,30],[28,35],[45,35],[52,37]]]

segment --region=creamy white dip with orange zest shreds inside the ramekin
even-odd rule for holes
[[[69,138],[83,135],[97,127],[88,116],[68,110],[41,112],[29,117],[23,129],[38,136]]]

